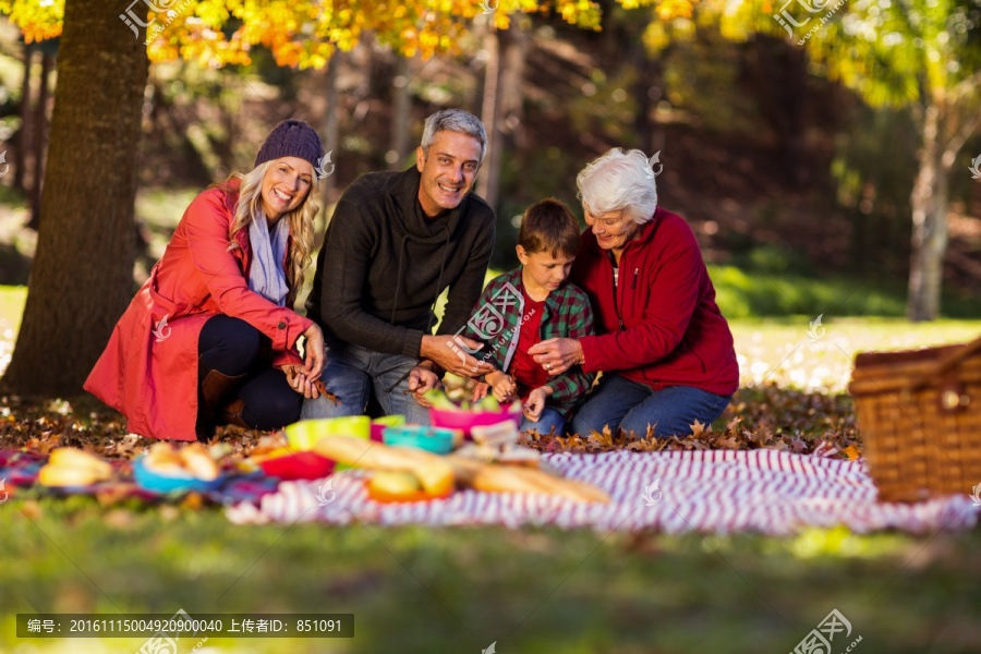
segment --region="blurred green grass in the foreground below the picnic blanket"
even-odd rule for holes
[[[221,652],[428,654],[493,641],[528,653],[787,652],[837,608],[862,635],[861,652],[981,647],[978,532],[637,540],[554,529],[235,526],[218,510],[107,510],[82,498],[9,501],[0,525],[0,646],[17,642],[16,613],[183,608],[355,615],[353,640],[208,642]],[[73,652],[141,644],[75,642]],[[65,641],[33,643],[66,651]]]

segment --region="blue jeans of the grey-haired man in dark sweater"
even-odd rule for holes
[[[411,356],[332,342],[327,350],[327,365],[320,377],[324,386],[337,396],[340,404],[335,404],[324,396],[316,400],[305,399],[300,417],[306,420],[363,415],[368,393],[374,391],[386,415],[401,414],[409,424],[428,425],[429,410],[421,407],[409,392],[409,377],[401,379],[417,363],[419,359]]]

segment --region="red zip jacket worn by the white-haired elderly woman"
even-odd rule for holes
[[[586,229],[572,265],[572,282],[589,295],[596,329],[595,336],[579,339],[585,372],[616,372],[654,390],[736,391],[732,335],[685,220],[658,208],[623,249],[616,301],[613,279],[607,251]]]

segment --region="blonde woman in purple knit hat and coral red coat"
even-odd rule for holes
[[[320,328],[291,308],[311,261],[323,156],[312,128],[284,121],[251,172],[184,211],[85,382],[130,432],[207,440],[217,424],[275,429],[299,419],[325,359]]]

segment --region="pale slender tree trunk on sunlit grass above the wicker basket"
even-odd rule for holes
[[[933,105],[924,113],[923,143],[917,154],[919,170],[910,194],[913,230],[906,314],[915,322],[933,320],[940,314],[947,249],[948,170],[941,144],[945,112]]]

